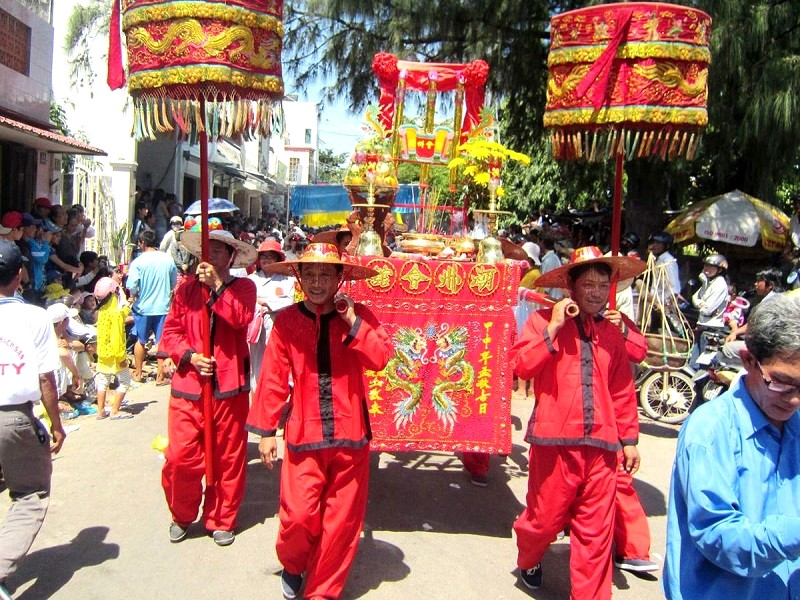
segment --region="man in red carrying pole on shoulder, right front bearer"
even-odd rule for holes
[[[642,261],[582,247],[570,264],[535,282],[568,288],[571,297],[531,315],[510,356],[514,373],[532,379],[536,395],[526,435],[526,508],[514,523],[517,564],[529,589],[541,586],[541,559],[569,524],[572,597],[611,598],[617,451],[634,473],[639,422],[625,338],[601,313],[612,280],[644,268]],[[567,316],[571,305],[579,308],[575,317]]]

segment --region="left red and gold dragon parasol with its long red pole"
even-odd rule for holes
[[[124,31],[133,133],[137,139],[167,134],[199,142],[201,223],[208,223],[209,138],[266,137],[273,123],[281,124],[282,18],[283,0],[112,2],[108,85],[125,84]],[[208,260],[208,229],[202,228],[203,261]],[[211,356],[210,309],[203,304],[203,354]],[[212,394],[206,377],[206,485],[214,480]]]

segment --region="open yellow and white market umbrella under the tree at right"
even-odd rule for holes
[[[734,190],[695,202],[675,217],[666,231],[676,243],[698,238],[780,252],[789,242],[789,217],[771,204]]]

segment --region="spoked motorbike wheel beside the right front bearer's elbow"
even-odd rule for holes
[[[652,373],[642,382],[639,404],[654,421],[683,423],[695,405],[692,378],[680,371]]]

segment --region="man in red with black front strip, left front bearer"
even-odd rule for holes
[[[296,598],[305,578],[304,598],[338,598],[367,504],[371,433],[364,370],[380,371],[394,350],[369,309],[335,298],[342,281],[372,277],[374,270],[342,261],[336,247],[324,243],[268,270],[295,274],[306,299],[275,317],[247,429],[261,435],[261,460],[271,469],[291,394],[276,546],[281,587],[284,598]]]

